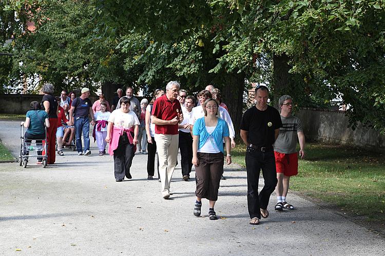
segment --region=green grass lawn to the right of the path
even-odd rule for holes
[[[385,154],[341,145],[307,143],[290,189],[348,215],[385,223]],[[245,146],[232,151],[245,166]]]

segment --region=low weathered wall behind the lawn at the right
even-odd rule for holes
[[[342,111],[301,109],[295,116],[301,119],[307,139],[385,152],[385,136],[360,124],[353,131],[348,127],[349,119]]]

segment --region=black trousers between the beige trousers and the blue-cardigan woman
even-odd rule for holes
[[[179,150],[181,151],[182,176],[190,176],[192,168],[192,136],[179,131]]]

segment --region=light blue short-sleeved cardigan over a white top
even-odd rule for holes
[[[210,137],[210,134],[206,130],[206,123],[204,122],[204,117],[199,118],[195,123],[194,127],[192,128],[192,135],[199,136],[199,143],[198,143],[198,150],[201,148],[206,140]],[[211,136],[213,136],[213,139],[215,140],[218,148],[222,153],[224,153],[223,149],[223,137],[228,137],[228,126],[227,123],[223,120],[218,118],[217,126],[215,127],[215,130],[213,133],[211,133]]]

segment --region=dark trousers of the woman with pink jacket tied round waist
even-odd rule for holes
[[[124,176],[130,173],[132,158],[135,155],[133,150],[134,145],[130,143],[122,143],[122,138],[119,139],[118,148],[113,151],[113,168],[115,179],[123,180]]]

